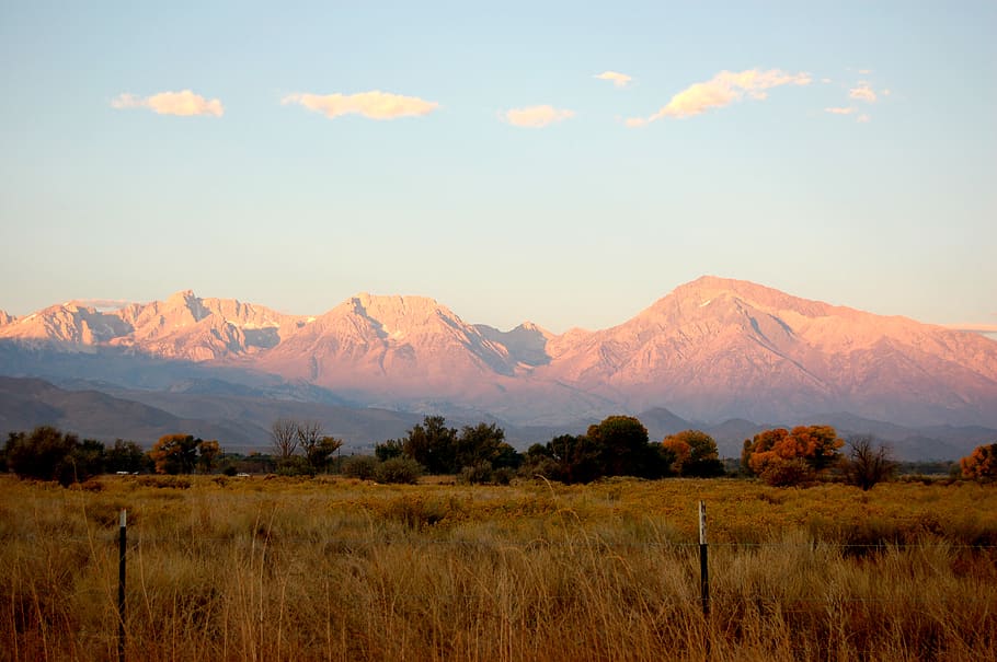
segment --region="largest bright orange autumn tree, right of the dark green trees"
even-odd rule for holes
[[[742,465],[770,485],[797,485],[832,466],[845,442],[830,426],[776,428],[745,440]]]

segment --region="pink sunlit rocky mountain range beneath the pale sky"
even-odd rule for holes
[[[836,413],[997,428],[997,341],[711,276],[617,326],[564,334],[469,324],[424,297],[357,294],[316,316],[191,291],[67,302],[0,312],[0,374],[115,397],[197,392],[523,429],[661,408],[700,427]]]

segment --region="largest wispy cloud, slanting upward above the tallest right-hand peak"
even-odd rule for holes
[[[672,97],[667,105],[652,115],[644,123],[629,121],[628,126],[643,126],[665,117],[683,119],[702,115],[713,108],[722,108],[738,102],[748,95],[755,100],[768,97],[767,90],[781,85],[809,85],[813,79],[809,73],[788,73],[779,69],[761,71],[721,71],[701,83],[689,85]]]

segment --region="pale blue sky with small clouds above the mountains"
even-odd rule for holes
[[[997,329],[997,2],[0,2],[0,309]]]

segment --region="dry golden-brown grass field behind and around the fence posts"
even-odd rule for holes
[[[128,660],[997,659],[997,486],[146,476],[0,476],[0,659],[117,659],[122,508]]]

